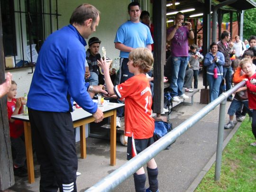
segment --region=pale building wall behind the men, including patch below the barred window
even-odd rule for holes
[[[114,38],[118,27],[129,18],[127,6],[130,2],[131,0],[86,1],[86,3],[101,11],[99,26],[96,28],[96,32],[91,34],[91,37],[98,37],[101,40],[101,46],[105,46],[107,56],[111,59],[119,57],[119,51],[114,46]],[[58,12],[61,15],[59,17],[59,28],[69,24],[69,18],[73,10],[82,3],[85,3],[85,1],[58,0]],[[9,72],[13,74],[13,80],[18,84],[17,97],[22,97],[24,92],[29,91],[33,76],[33,74],[28,74],[28,72],[31,72],[31,68],[9,70]]]

